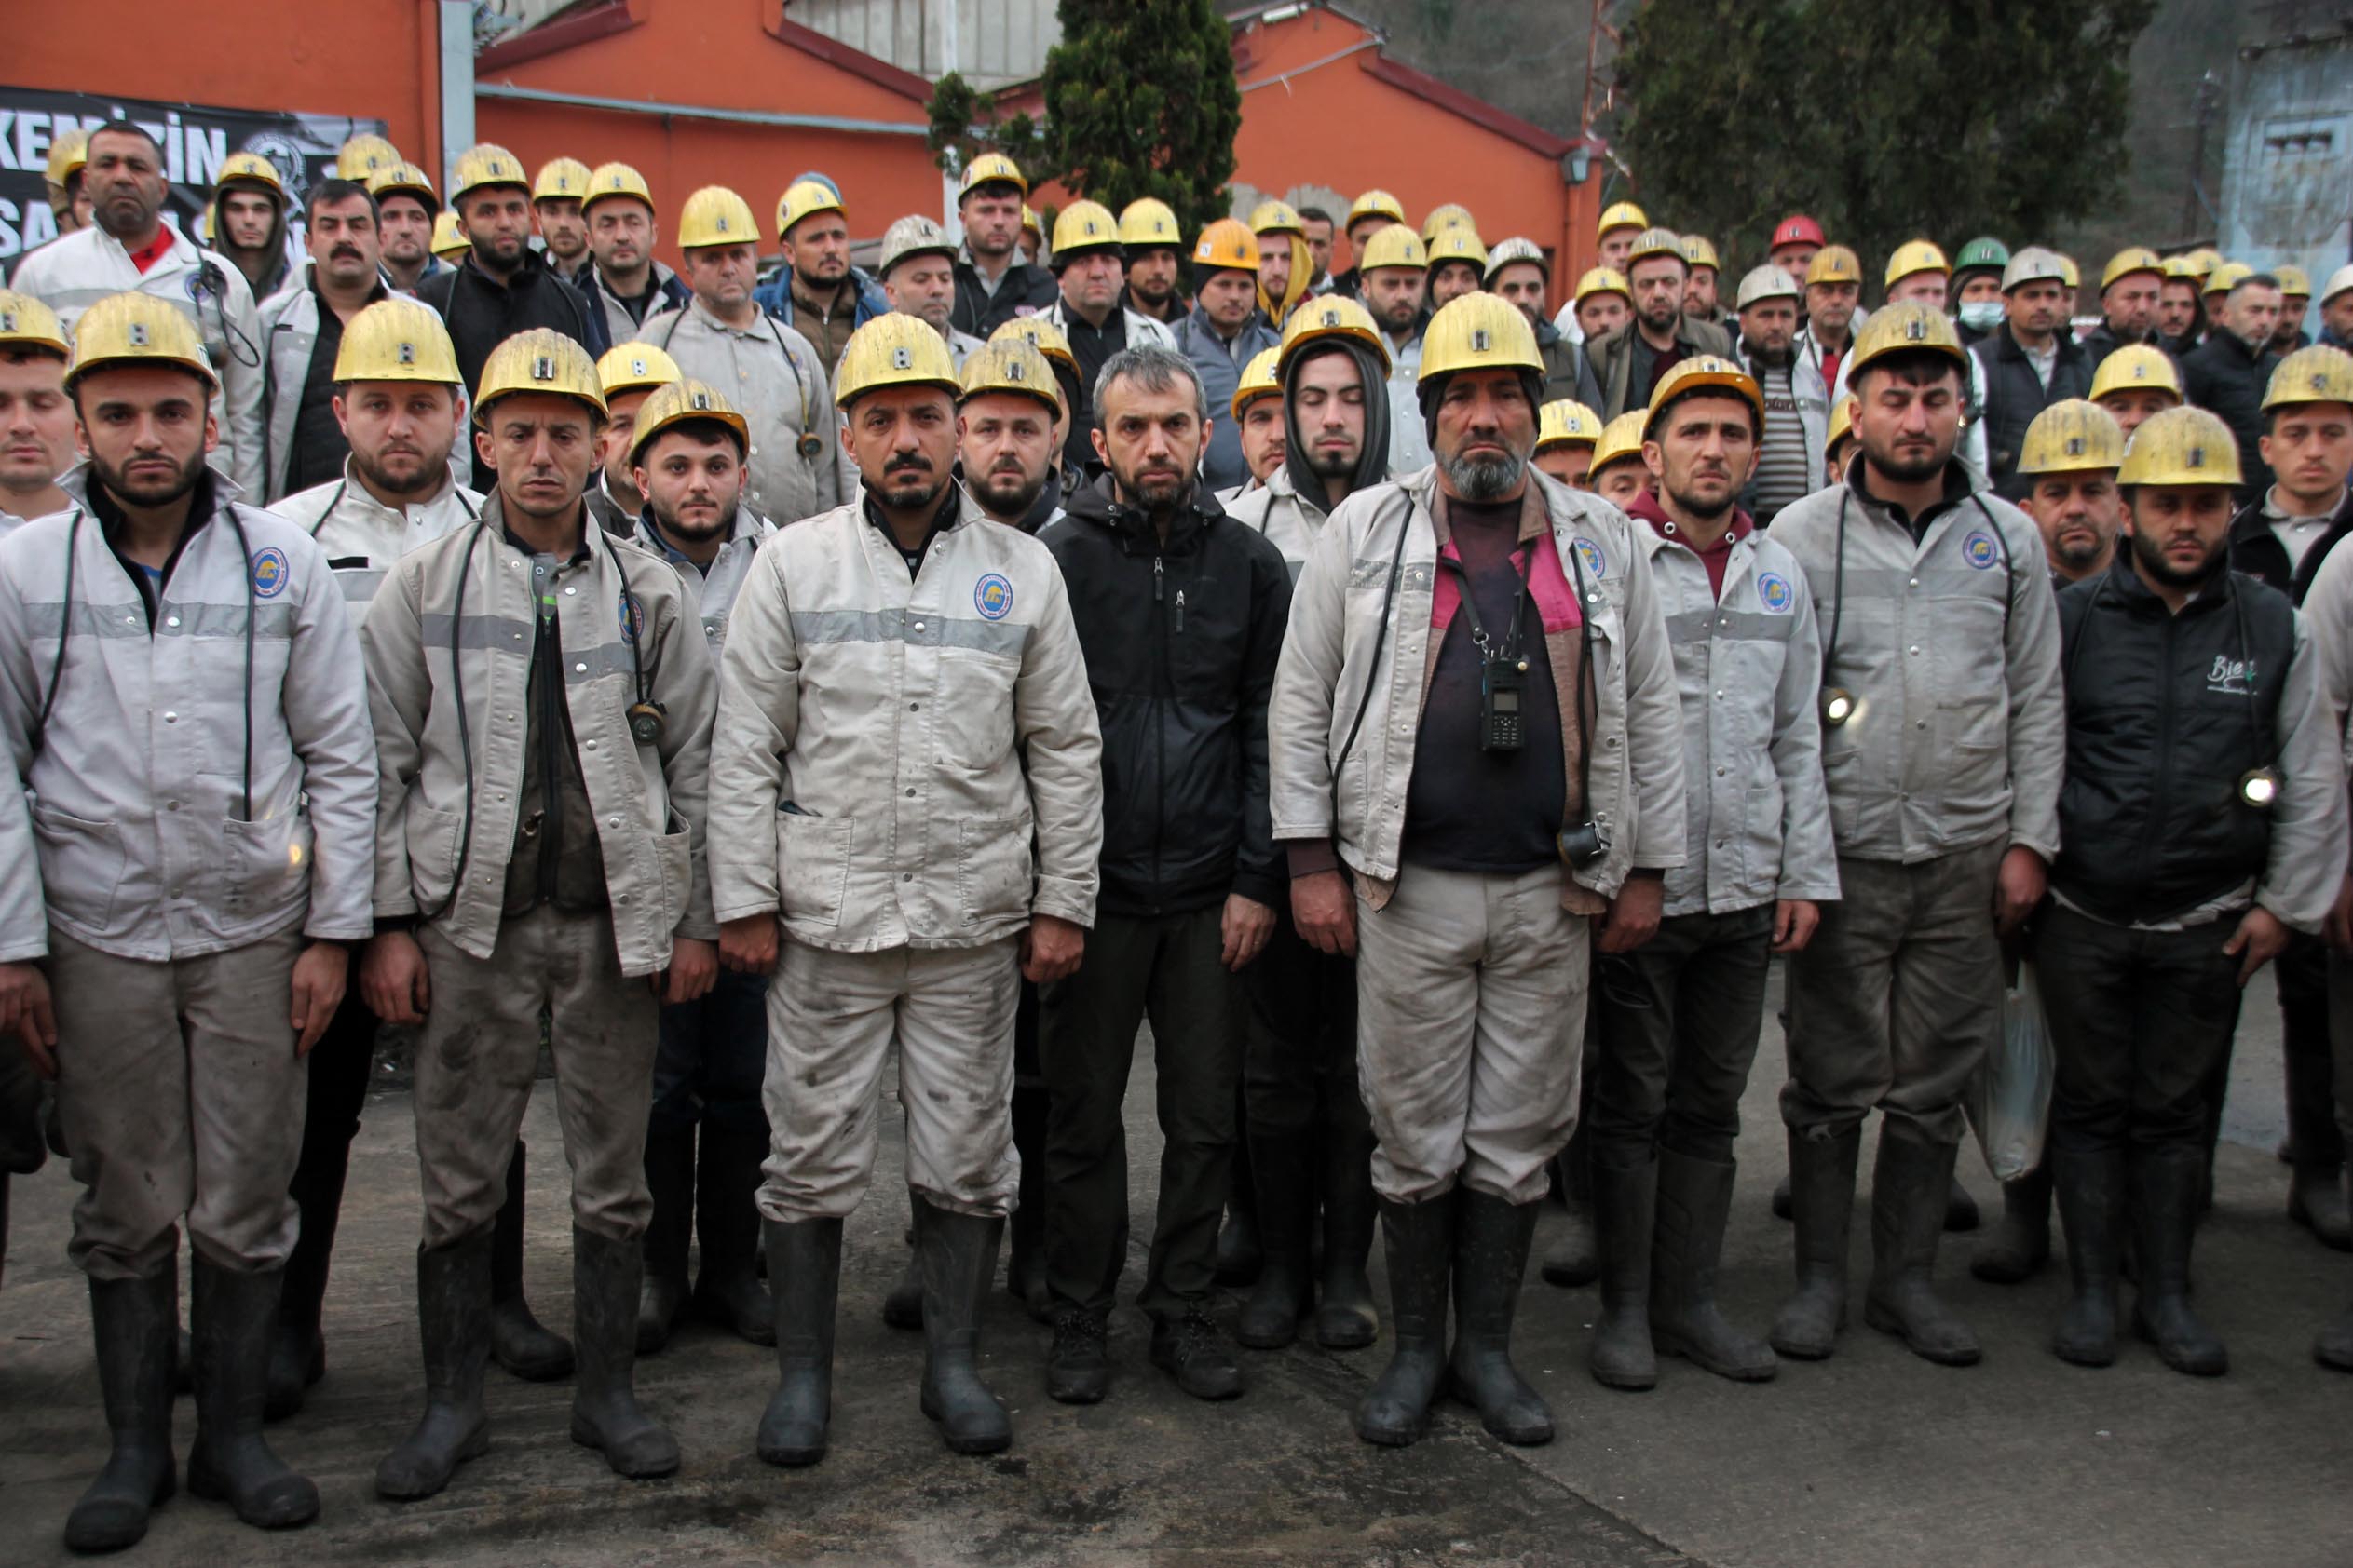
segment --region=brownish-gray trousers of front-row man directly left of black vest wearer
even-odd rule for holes
[[[1993,884],[2005,844],[1904,865],[1838,858],[1835,903],[1788,964],[1781,1121],[1835,1138],[1880,1110],[1960,1143],[1960,1100],[2002,1032]]]

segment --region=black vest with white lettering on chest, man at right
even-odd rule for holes
[[[2261,877],[2271,816],[2240,802],[2238,780],[2278,759],[2294,651],[2287,595],[2235,571],[2181,614],[2125,557],[2061,590],[2066,783],[2052,889],[2132,924]]]

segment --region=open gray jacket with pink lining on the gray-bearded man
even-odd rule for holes
[[[1553,517],[1562,571],[1572,571],[1569,550],[1584,567],[1598,701],[1586,736],[1588,809],[1609,851],[1572,875],[1609,898],[1635,865],[1685,860],[1675,665],[1649,557],[1635,548],[1626,515],[1548,475],[1529,470],[1529,482]],[[1424,468],[1402,484],[1358,491],[1332,512],[1292,592],[1268,717],[1275,839],[1337,839],[1339,856],[1381,884],[1398,877],[1405,790],[1421,731],[1438,576],[1428,510],[1435,489],[1438,470]],[[1393,564],[1398,592],[1386,604]]]

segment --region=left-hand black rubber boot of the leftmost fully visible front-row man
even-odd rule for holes
[[[66,1514],[71,1552],[120,1552],[146,1535],[179,1479],[172,1460],[172,1342],[179,1338],[179,1267],[144,1279],[92,1279],[89,1331],[113,1450]]]

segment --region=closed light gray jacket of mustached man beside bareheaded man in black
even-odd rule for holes
[[[800,522],[753,557],[722,668],[720,919],[781,910],[842,952],[1094,924],[1104,736],[1035,538],[958,491],[911,581],[861,505]]]

